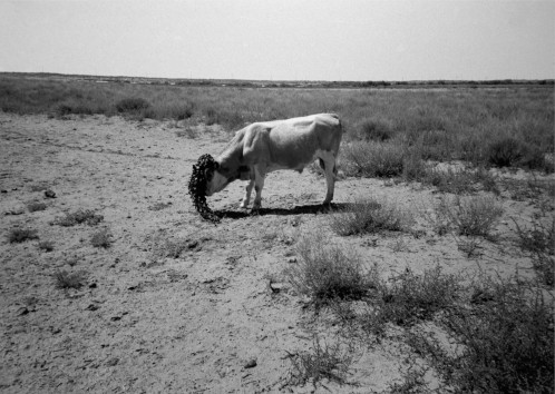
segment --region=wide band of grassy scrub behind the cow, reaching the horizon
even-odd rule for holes
[[[463,159],[475,165],[519,166],[553,171],[554,90],[552,85],[495,85],[434,89],[276,89],[233,86],[98,83],[0,78],[0,108],[7,112],[125,115],[133,119],[187,119],[220,124],[230,131],[245,124],[337,112],[351,175],[396,176],[407,161]],[[376,145],[374,141],[382,142]],[[370,142],[370,144],[369,144]],[[381,174],[367,174],[358,156],[400,160]],[[405,165],[403,165],[405,161]],[[386,162],[389,166],[388,162]]]

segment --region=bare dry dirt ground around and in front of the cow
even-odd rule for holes
[[[309,349],[311,312],[283,272],[298,264],[294,244],[308,232],[330,233],[324,179],[311,171],[266,178],[261,215],[238,209],[242,183],[208,198],[228,217],[217,226],[195,213],[187,195],[192,165],[216,156],[230,139],[216,126],[128,121],[93,116],[50,119],[0,112],[0,391],[6,393],[369,393],[399,381],[403,355],[386,345],[356,348],[348,381],[314,388],[288,385],[288,352]],[[56,193],[46,198],[45,189]],[[344,178],[334,201],[376,196],[416,217],[412,233],[332,238],[379,264],[387,275],[473,270],[534,276],[510,242],[513,218],[529,225],[536,207],[500,198],[505,209],[481,256],[467,258],[452,236],[418,219],[437,198],[430,188]],[[42,201],[45,210],[27,205]],[[96,226],[64,227],[57,218],[93,209]],[[9,243],[13,228],[39,239]],[[94,247],[99,229],[109,248]],[[420,232],[418,232],[420,229]],[[415,236],[420,234],[420,236]],[[503,240],[503,235],[507,239]],[[53,243],[53,250],[39,242]],[[181,245],[172,253],[171,245]],[[56,287],[53,274],[86,274],[79,289]],[[395,346],[393,346],[395,347]]]

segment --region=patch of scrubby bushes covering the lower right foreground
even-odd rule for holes
[[[553,297],[535,283],[445,274],[439,265],[421,274],[407,267],[384,279],[378,264],[366,270],[360,257],[320,235],[304,235],[298,248],[301,264],[289,272],[293,288],[317,311],[327,306],[344,334],[334,345],[317,338],[312,353],[291,355],[294,384],[345,383],[345,346],[396,339],[413,356],[391,392],[427,392],[422,376],[430,368],[440,377],[439,392],[552,392]]]

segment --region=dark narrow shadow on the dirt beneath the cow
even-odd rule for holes
[[[220,209],[214,213],[221,218],[242,219],[251,216],[266,216],[266,215],[306,215],[306,214],[329,214],[335,210],[348,209],[351,203],[332,203],[329,205],[312,204],[312,205],[296,205],[292,208],[260,208],[259,210],[235,210],[235,209]]]

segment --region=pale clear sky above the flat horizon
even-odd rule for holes
[[[0,0],[0,71],[555,78],[555,0]]]

